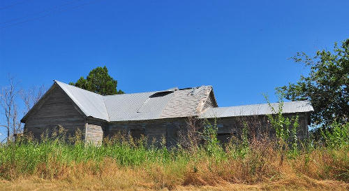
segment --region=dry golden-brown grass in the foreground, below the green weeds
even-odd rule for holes
[[[348,180],[334,179],[340,168],[349,165],[338,157],[319,150],[283,164],[280,158],[272,150],[256,150],[244,159],[216,163],[203,159],[185,167],[176,163],[119,167],[108,158],[98,168],[94,162],[59,168],[42,165],[34,175],[0,181],[0,190],[349,190]],[[52,168],[59,174],[43,176]]]

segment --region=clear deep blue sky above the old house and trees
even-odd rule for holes
[[[297,51],[349,37],[349,1],[0,2],[0,86],[75,81],[107,66],[126,93],[213,85],[218,106],[276,101]]]

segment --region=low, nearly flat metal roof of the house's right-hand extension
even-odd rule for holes
[[[279,103],[270,104],[274,111],[278,111]],[[208,108],[200,118],[227,118],[248,115],[268,115],[275,112],[269,104],[253,104],[245,106]],[[283,113],[303,113],[314,111],[310,101],[289,101],[283,103]]]

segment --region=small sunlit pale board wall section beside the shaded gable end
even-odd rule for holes
[[[96,120],[87,120],[86,123],[86,143],[101,145],[103,141],[104,123]]]

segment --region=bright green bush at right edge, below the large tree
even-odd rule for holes
[[[341,125],[333,122],[330,128],[321,129],[321,138],[329,148],[344,148],[349,146],[349,122]]]

